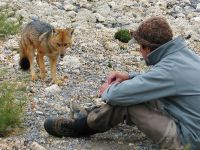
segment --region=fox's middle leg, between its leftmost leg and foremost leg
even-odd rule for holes
[[[37,63],[40,68],[40,78],[44,80],[45,78],[44,54],[41,52],[38,52],[37,54]]]

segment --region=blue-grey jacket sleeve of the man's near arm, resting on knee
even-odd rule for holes
[[[130,106],[176,93],[172,75],[165,70],[150,70],[130,80],[114,83],[102,94],[102,100],[111,105]]]

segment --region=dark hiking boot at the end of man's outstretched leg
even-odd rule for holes
[[[76,119],[63,117],[48,118],[44,122],[45,130],[56,137],[81,137],[97,133],[87,125],[87,116]]]

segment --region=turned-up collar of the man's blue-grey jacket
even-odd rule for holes
[[[151,52],[147,57],[147,65],[155,65],[158,63],[162,58],[166,57],[169,54],[172,54],[176,51],[181,50],[185,47],[186,44],[182,37],[177,37],[162,46],[155,49]]]

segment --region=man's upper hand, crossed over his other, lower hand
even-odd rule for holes
[[[113,71],[108,75],[107,82],[108,84],[111,84],[113,82],[122,82],[128,79],[129,79],[128,73]]]

